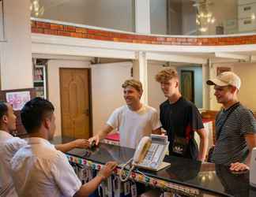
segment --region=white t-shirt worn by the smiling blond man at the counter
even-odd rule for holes
[[[145,105],[137,111],[130,110],[126,105],[119,107],[109,117],[107,125],[118,129],[120,145],[130,148],[136,148],[142,137],[161,127],[156,110]]]

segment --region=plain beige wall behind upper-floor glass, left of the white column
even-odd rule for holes
[[[45,19],[134,32],[132,0],[40,0],[40,4]]]

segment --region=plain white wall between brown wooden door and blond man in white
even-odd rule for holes
[[[100,130],[111,113],[125,101],[122,83],[130,79],[132,62],[92,65],[93,134]]]

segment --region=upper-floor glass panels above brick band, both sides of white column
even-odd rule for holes
[[[152,34],[229,35],[256,32],[256,0],[149,2]],[[32,17],[127,32],[134,32],[135,29],[135,0],[31,0],[31,10]]]

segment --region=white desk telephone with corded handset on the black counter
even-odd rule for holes
[[[168,137],[160,135],[145,136],[141,139],[134,153],[134,158],[131,158],[125,165],[122,165],[119,177],[122,181],[128,180],[131,171],[137,168],[149,169],[158,171],[164,169],[169,163],[163,162],[164,155],[168,150]],[[127,169],[126,165],[131,164],[126,177],[123,175],[123,170]]]

